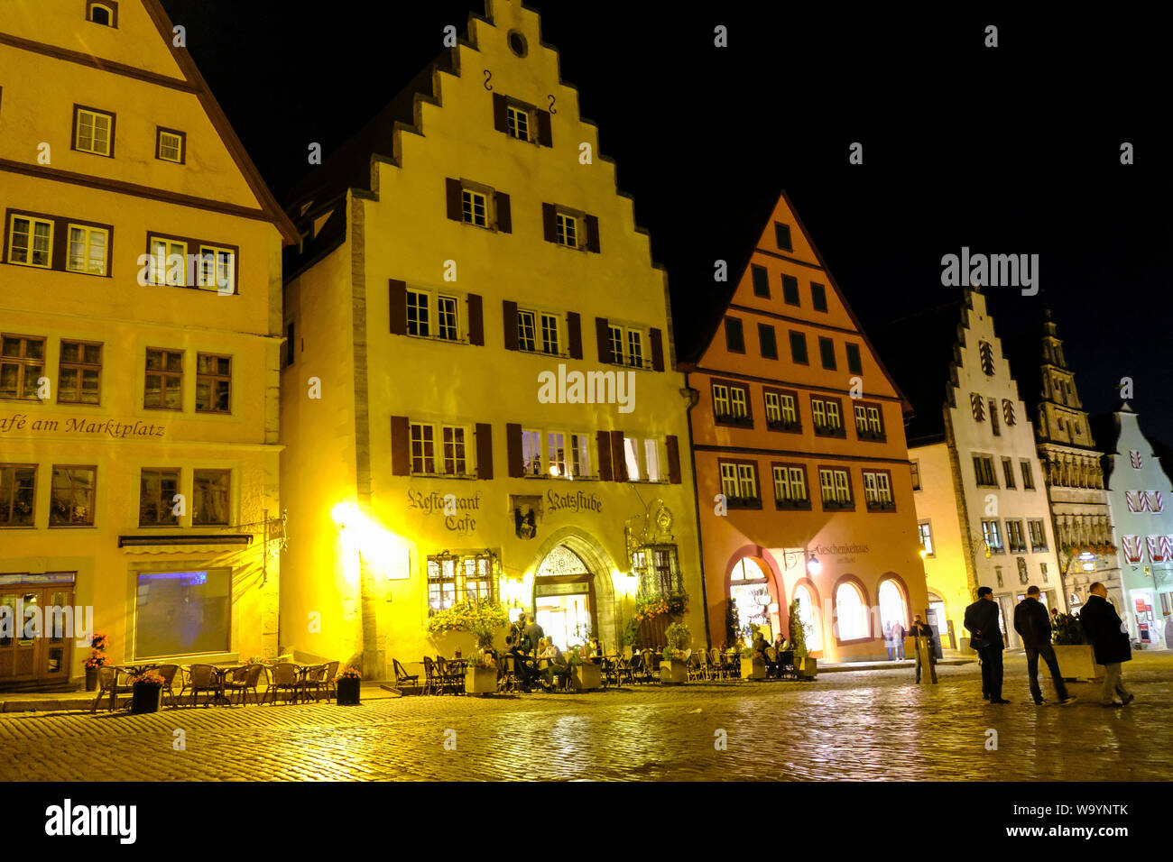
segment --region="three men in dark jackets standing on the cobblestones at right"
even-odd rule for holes
[[[1132,703],[1133,695],[1124,687],[1120,679],[1120,665],[1132,659],[1132,644],[1127,630],[1120,623],[1116,609],[1107,600],[1107,588],[1094,583],[1089,589],[1089,597],[1079,612],[1079,622],[1096,651],[1096,663],[1104,665],[1104,690],[1100,703],[1104,706],[1124,706]],[[970,646],[977,650],[982,663],[982,697],[991,704],[1009,704],[1002,697],[1002,651],[1005,644],[1002,639],[1002,626],[998,622],[998,603],[994,590],[981,586],[977,590],[977,602],[965,609],[965,629],[970,633]],[[1030,693],[1035,704],[1043,706],[1046,700],[1038,685],[1038,660],[1042,658],[1051,672],[1055,694],[1060,705],[1076,700],[1067,692],[1067,686],[1059,673],[1059,663],[1055,658],[1051,645],[1051,616],[1046,605],[1039,600],[1039,589],[1029,586],[1026,597],[1015,606],[1015,631],[1023,640],[1026,651],[1026,674],[1030,678]]]

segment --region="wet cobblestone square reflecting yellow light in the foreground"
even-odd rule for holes
[[[155,715],[0,717],[0,779],[301,780],[1168,780],[1173,653],[1125,665],[1137,700],[1036,707],[1006,657],[1009,706],[976,664],[827,673],[815,683],[710,683],[590,694],[389,698],[167,708]],[[1044,695],[1053,697],[1050,680]],[[986,749],[988,729],[997,751]],[[185,749],[175,751],[175,732]],[[455,749],[452,751],[455,732]],[[727,737],[718,751],[718,732]],[[448,740],[448,749],[445,742]]]

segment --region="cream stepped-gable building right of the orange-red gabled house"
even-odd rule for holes
[[[1008,646],[1019,646],[1013,606],[1028,586],[1049,609],[1065,604],[1035,429],[985,297],[969,289],[879,338],[916,410],[908,444],[930,604],[961,647],[965,606],[989,586]],[[900,349],[910,342],[923,349]]]

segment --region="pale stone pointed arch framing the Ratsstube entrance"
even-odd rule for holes
[[[582,571],[574,571],[575,558],[582,563]],[[615,583],[611,579],[611,572],[616,570],[616,566],[611,555],[585,530],[576,527],[563,527],[555,530],[538,547],[529,569],[526,571],[527,581],[534,585],[528,612],[536,610],[538,572],[548,559],[550,562],[547,565],[547,573],[542,576],[543,588],[557,584],[589,584],[586,593],[590,596],[591,627],[605,649],[617,645],[616,596]],[[572,590],[575,588],[568,586],[565,589]]]

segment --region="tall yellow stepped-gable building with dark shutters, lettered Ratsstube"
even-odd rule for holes
[[[289,209],[283,646],[389,677],[490,599],[610,651],[682,589],[704,645],[665,273],[537,14],[490,1]]]

